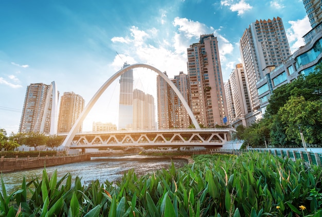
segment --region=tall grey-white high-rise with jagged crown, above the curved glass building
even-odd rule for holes
[[[274,17],[273,20],[257,20],[249,25],[240,40],[240,53],[251,110],[254,116],[260,118],[256,82],[291,55],[282,19]]]

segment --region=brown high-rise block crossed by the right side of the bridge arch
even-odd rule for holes
[[[166,74],[166,73],[165,73]],[[190,105],[189,77],[180,71],[171,81]],[[157,76],[157,101],[158,101],[158,128],[188,128],[191,124],[190,117],[181,100],[170,85],[160,76]]]

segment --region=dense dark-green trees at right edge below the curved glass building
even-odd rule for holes
[[[264,118],[249,128],[237,129],[244,146],[302,146],[300,129],[309,144],[322,145],[322,64],[273,91]]]

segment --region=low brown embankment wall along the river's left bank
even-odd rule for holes
[[[12,172],[15,170],[49,167],[72,162],[91,160],[90,154],[60,157],[28,157],[28,158],[2,158],[0,162],[1,172]]]

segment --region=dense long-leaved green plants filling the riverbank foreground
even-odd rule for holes
[[[121,182],[81,185],[71,175],[35,178],[11,195],[3,180],[0,216],[320,216],[321,168],[268,153],[199,155],[193,165]],[[31,189],[31,184],[34,188]],[[27,199],[27,191],[32,196]],[[15,205],[16,204],[16,205]]]

